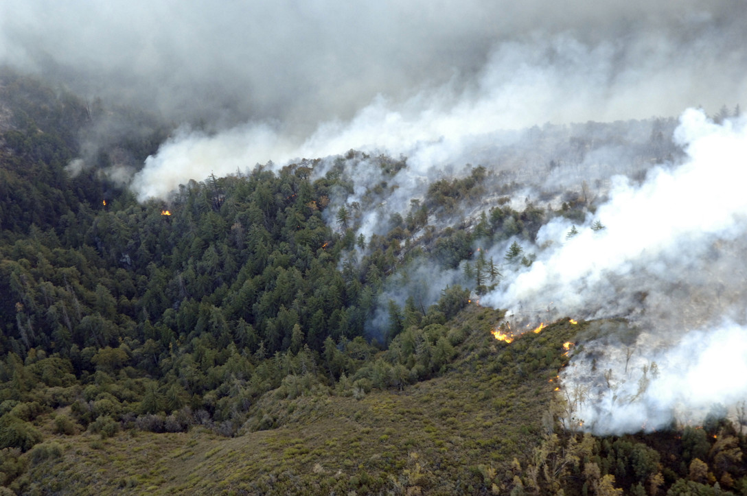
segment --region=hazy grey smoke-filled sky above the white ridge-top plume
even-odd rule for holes
[[[177,122],[262,121],[306,137],[376,95],[439,110],[479,100],[524,63],[560,69],[558,44],[573,40],[594,56],[578,62],[595,64],[577,90],[625,98],[579,115],[602,120],[737,103],[746,10],[737,0],[5,0],[0,60]]]

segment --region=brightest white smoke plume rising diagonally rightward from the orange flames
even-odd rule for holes
[[[608,275],[617,280],[651,274],[674,284],[688,280],[686,269],[704,260],[709,262],[705,269],[716,269],[712,252],[723,251],[723,243],[739,240],[744,232],[747,198],[737,177],[747,154],[746,137],[743,119],[716,125],[698,110],[686,111],[675,131],[675,140],[689,157],[686,163],[657,166],[640,186],[624,176],[614,177],[610,201],[598,207],[577,236],[567,239],[567,219],[542,227],[537,244],[551,249],[483,301],[545,298],[568,312],[601,307],[606,315],[614,303],[625,313],[630,302],[620,301],[617,292],[612,302],[589,301],[585,290],[607,283]],[[606,228],[593,230],[595,219]],[[579,294],[583,298],[575,301]]]

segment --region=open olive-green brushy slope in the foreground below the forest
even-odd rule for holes
[[[463,312],[457,325],[470,333],[457,360],[402,392],[277,401],[281,427],[232,439],[202,428],[49,434],[62,455],[32,461],[19,482],[90,495],[507,492],[512,460],[523,462],[539,442],[562,342],[583,324],[558,321],[506,345],[489,333],[499,315]]]

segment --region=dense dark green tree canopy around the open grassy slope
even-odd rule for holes
[[[102,127],[116,132],[101,139]],[[551,399],[548,380],[567,362],[560,343],[577,329],[565,319],[509,348],[488,332],[503,313],[471,302],[500,283],[501,263],[532,263],[517,243],[505,260],[486,259],[480,242],[533,240],[553,216],[583,220],[589,198],[567,195],[558,210],[527,202],[519,211],[510,206],[515,185],[506,183],[494,206],[437,230],[430,221],[450,219],[500,181],[476,166],[431,183],[423,201],[367,239],[357,229],[361,204],[332,206],[353,190],[344,162],[362,154],[350,151],[323,175],[315,173],[319,160],[255,166],[139,203],[111,169],[137,169],[171,128],[1,72],[0,483],[28,490],[27,470],[60,456],[60,445],[44,441],[50,437],[197,428],[237,436],[291,423],[296,404],[288,402],[297,398],[400,395],[452,374],[492,385],[474,396],[490,415],[532,415],[524,411],[536,408],[530,396],[545,401],[546,415],[506,423],[505,439],[464,448],[469,459],[492,451],[495,463],[460,472],[450,459],[453,470],[441,477],[462,482],[439,486],[443,492],[729,494],[715,492],[718,481],[746,494],[746,440],[717,416],[677,439],[560,430],[563,401]],[[84,165],[71,166],[75,160]],[[383,178],[406,167],[401,157],[376,160]],[[364,203],[388,187],[371,185]],[[460,268],[464,284],[431,301],[407,271],[422,263]],[[389,290],[397,284],[415,289],[395,300]],[[522,398],[499,392],[530,383]],[[451,422],[447,406],[441,412]],[[379,440],[397,435],[386,432]],[[368,467],[371,474],[360,468],[344,482],[315,483],[320,492],[433,489],[437,471],[428,476],[425,466],[411,456],[407,483],[387,479],[384,462]],[[293,490],[251,490],[282,488]]]

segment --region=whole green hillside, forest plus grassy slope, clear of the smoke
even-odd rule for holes
[[[172,131],[0,72],[0,494],[747,494],[747,437],[717,409],[654,433],[565,423],[554,380],[598,322],[490,332],[505,313],[478,300],[533,263],[521,242],[593,217],[603,184],[553,207],[468,164],[367,236],[406,157],[247,164],[137,201],[117,171]],[[662,136],[638,169],[681,153]],[[562,141],[548,171],[607,143]],[[423,266],[458,283],[434,294]]]

